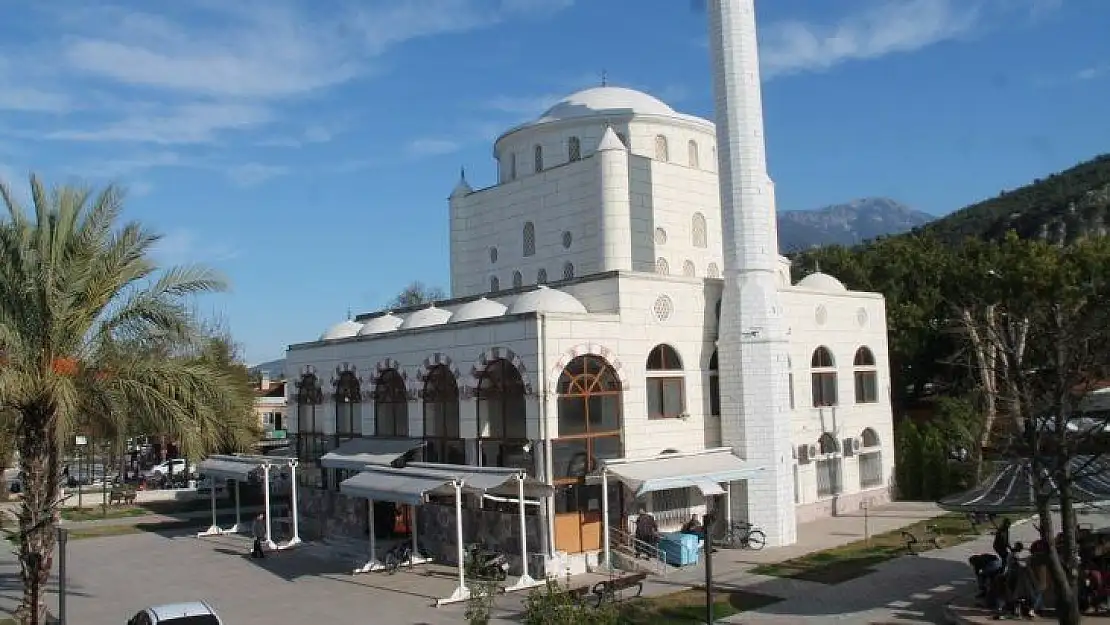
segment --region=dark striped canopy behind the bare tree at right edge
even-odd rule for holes
[[[1110,502],[1110,458],[1077,456],[1071,458],[1069,472],[1076,503]],[[1051,506],[1058,507],[1056,484],[1050,477],[1038,478],[1032,463],[1016,458],[999,463],[990,477],[972,488],[945,497],[937,506],[949,512],[1010,513],[1037,510],[1037,491],[1048,488]]]

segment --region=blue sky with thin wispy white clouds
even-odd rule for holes
[[[118,181],[249,361],[412,280],[491,142],[609,82],[712,117],[689,0],[0,0],[0,178]],[[764,0],[779,209],[945,213],[1110,151],[1106,0]]]

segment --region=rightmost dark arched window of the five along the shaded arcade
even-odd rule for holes
[[[497,359],[478,376],[478,455],[482,466],[533,468],[524,380],[513,363]]]

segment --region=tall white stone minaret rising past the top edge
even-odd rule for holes
[[[797,540],[791,461],[787,326],[775,266],[778,232],[764,145],[755,0],[709,1],[725,290],[717,357],[722,438],[754,466],[733,515]]]

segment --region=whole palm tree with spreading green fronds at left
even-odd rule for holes
[[[46,188],[30,179],[32,211],[0,183],[0,414],[17,432],[23,492],[19,616],[43,623],[41,588],[53,558],[64,443],[75,424],[104,432],[165,432],[204,452],[225,441],[238,391],[203,357],[190,309],[224,288],[203,268],[159,268],[160,236],[121,223],[123,193]]]

